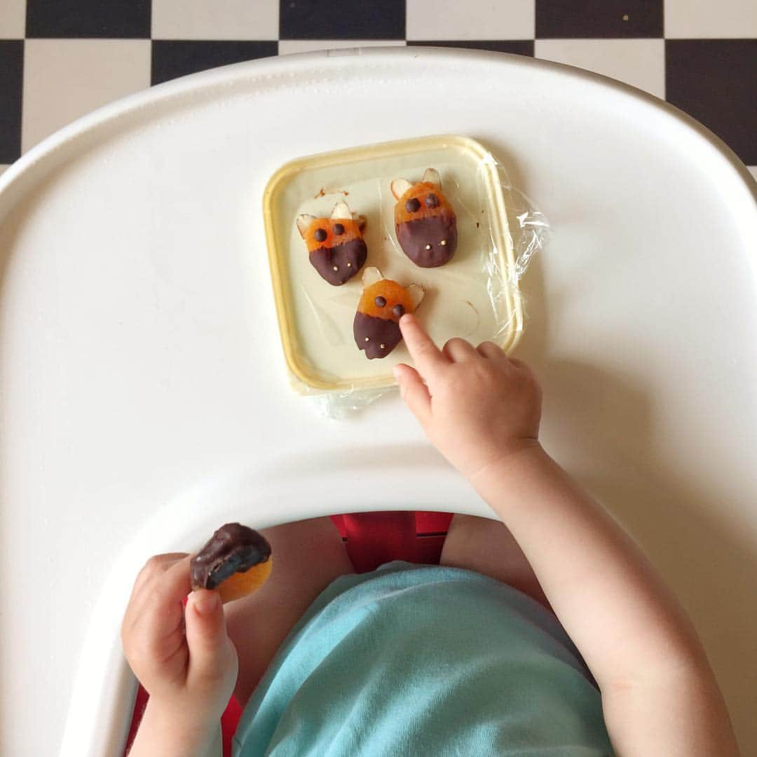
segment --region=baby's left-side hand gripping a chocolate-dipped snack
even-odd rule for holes
[[[237,677],[217,592],[191,589],[190,556],[156,555],[136,578],[121,625],[126,659],[167,718],[217,724]]]

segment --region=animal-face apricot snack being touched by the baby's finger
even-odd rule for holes
[[[402,339],[400,318],[413,313],[425,291],[418,284],[403,287],[385,279],[378,268],[370,266],[363,273],[363,294],[353,322],[355,344],[366,357],[386,357]]]

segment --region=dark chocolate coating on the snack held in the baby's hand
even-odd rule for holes
[[[215,589],[235,573],[244,573],[271,556],[271,545],[253,528],[227,523],[189,562],[192,589]]]

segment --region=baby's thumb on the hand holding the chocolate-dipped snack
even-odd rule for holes
[[[187,600],[184,613],[192,678],[219,678],[229,665],[231,642],[217,591],[198,589]]]

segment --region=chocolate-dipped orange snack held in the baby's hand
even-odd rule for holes
[[[227,523],[192,558],[192,590],[216,589],[231,602],[260,588],[273,565],[271,545],[262,534],[239,523]]]

